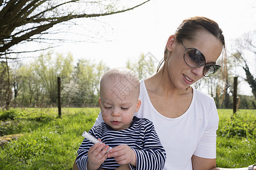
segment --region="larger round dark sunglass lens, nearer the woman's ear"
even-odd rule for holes
[[[201,67],[205,63],[204,55],[197,49],[187,49],[184,59],[191,67]]]

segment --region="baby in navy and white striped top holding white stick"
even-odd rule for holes
[[[79,169],[163,169],[166,152],[154,125],[134,116],[141,106],[138,98],[139,79],[130,69],[115,68],[102,76],[99,103],[104,123],[89,130],[102,143],[84,139],[77,151]]]

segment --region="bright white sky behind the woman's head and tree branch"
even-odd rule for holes
[[[110,68],[125,67],[128,59],[137,61],[141,53],[148,52],[160,61],[168,37],[174,34],[183,19],[192,16],[206,16],[216,21],[224,33],[229,51],[234,40],[256,30],[256,1],[151,0],[134,10],[104,16],[97,21],[77,20],[81,25],[71,27],[72,31],[92,33],[98,39],[93,39],[94,42],[63,43],[54,51],[71,52],[75,61],[83,58],[103,61]],[[79,35],[67,37],[81,40]]]

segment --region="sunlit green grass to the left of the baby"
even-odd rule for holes
[[[83,139],[81,134],[93,126],[99,111],[93,108],[63,109],[61,119],[56,118],[54,109],[43,113],[35,109],[22,111],[26,113],[23,118],[9,120],[18,128],[9,129],[16,133],[27,130],[24,137],[1,148],[0,169],[72,169]]]

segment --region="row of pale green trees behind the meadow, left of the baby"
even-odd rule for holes
[[[2,66],[2,65],[1,65]],[[5,65],[2,67],[5,68]],[[81,107],[98,103],[99,83],[102,74],[109,69],[103,62],[81,59],[76,66],[68,54],[42,54],[31,63],[11,65],[11,84],[14,88],[13,107],[47,107],[57,105],[57,77],[61,78],[61,103]],[[6,71],[2,79],[7,82]],[[1,85],[6,83],[2,82]],[[2,89],[2,90],[1,90]],[[6,85],[0,87],[0,102],[5,106]]]

